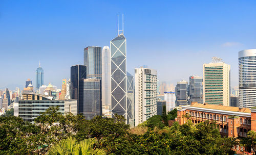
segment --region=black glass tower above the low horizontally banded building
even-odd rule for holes
[[[70,98],[77,99],[77,113],[83,114],[83,79],[86,79],[86,66],[75,65],[70,68]],[[80,84],[82,83],[82,84]]]

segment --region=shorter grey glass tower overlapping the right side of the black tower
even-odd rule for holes
[[[101,80],[83,79],[79,83],[80,113],[87,120],[93,119],[96,115],[102,115],[101,101]]]

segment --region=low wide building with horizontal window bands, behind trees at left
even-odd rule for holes
[[[34,123],[34,119],[49,107],[59,107],[62,114],[77,114],[77,100],[54,100],[53,97],[35,93],[23,93],[23,99],[18,101],[18,116],[24,121]]]

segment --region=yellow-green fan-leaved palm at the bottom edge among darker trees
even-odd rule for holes
[[[59,144],[52,146],[49,154],[56,155],[105,155],[105,151],[99,148],[92,148],[97,142],[96,139],[90,138],[81,141],[80,143],[73,137],[62,140]]]

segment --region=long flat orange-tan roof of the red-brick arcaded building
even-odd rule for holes
[[[198,104],[198,102],[193,102],[190,107],[225,110],[225,111],[232,111],[232,112],[251,113],[251,110],[249,108],[239,108],[239,107],[229,107],[229,106],[209,105],[209,104]]]

